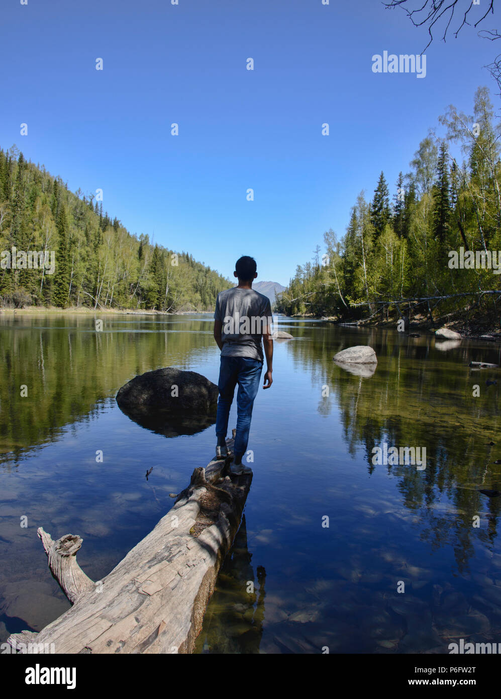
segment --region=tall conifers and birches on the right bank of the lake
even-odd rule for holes
[[[477,90],[472,117],[450,106],[440,123],[446,137],[421,141],[392,199],[381,173],[372,201],[358,196],[342,240],[324,234],[326,253],[317,246],[313,262],[296,268],[279,312],[381,319],[407,311],[412,299],[428,317],[498,314],[501,293],[482,292],[500,289],[501,275],[449,267],[449,252],[460,247],[484,251],[486,266],[487,252],[497,260],[501,250],[500,127],[488,89]]]

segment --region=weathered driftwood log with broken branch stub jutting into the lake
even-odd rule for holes
[[[227,444],[232,449],[233,440]],[[172,509],[100,582],[76,561],[80,537],[53,541],[39,528],[50,570],[73,607],[40,633],[10,635],[10,644],[29,636],[58,654],[191,653],[252,482],[252,474],[227,475],[229,463],[196,468]]]

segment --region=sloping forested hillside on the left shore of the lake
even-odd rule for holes
[[[132,236],[94,195],[69,192],[15,146],[0,150],[0,252],[13,246],[54,251],[55,271],[0,268],[0,305],[211,310],[232,286],[191,254]]]

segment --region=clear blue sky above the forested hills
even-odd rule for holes
[[[446,106],[472,113],[479,85],[499,101],[482,67],[498,47],[473,27],[437,31],[426,78],[373,73],[372,55],[427,43],[379,0],[3,0],[0,21],[1,147],[231,278],[251,254],[287,284],[382,170],[393,196]]]

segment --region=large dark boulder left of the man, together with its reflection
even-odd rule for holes
[[[134,377],[118,391],[117,403],[141,426],[175,437],[214,424],[218,393],[205,376],[166,367]]]

